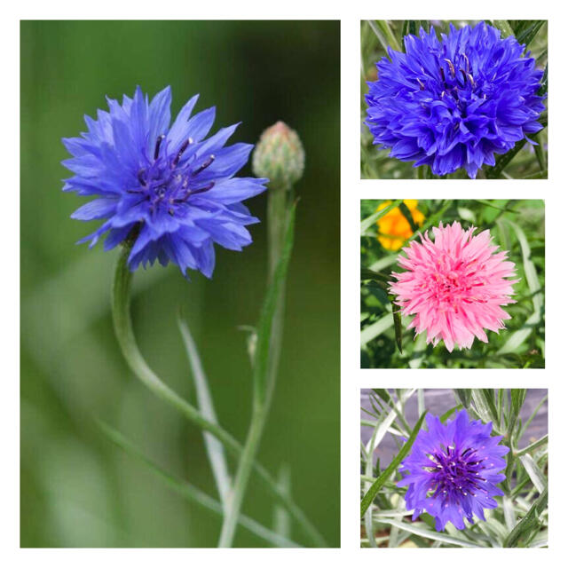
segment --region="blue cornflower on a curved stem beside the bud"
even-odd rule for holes
[[[248,161],[250,144],[225,146],[238,124],[205,138],[215,107],[191,116],[198,95],[170,126],[171,90],[151,102],[137,87],[122,105],[107,99],[109,112],[97,120],[85,116],[87,132],[64,138],[73,158],[63,165],[75,176],[64,191],[96,195],[71,216],[81,221],[105,219],[79,242],[93,247],[108,232],[105,250],[130,237],[130,270],[141,263],[170,261],[211,277],[213,243],[241,250],[252,242],[246,225],[258,222],[241,201],[264,191],[267,179],[234,177]]]

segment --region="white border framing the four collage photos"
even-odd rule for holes
[[[501,2],[477,0],[463,6],[455,2],[436,1],[425,6],[417,0],[404,5],[379,1],[351,0],[288,0],[267,3],[242,0],[240,3],[217,0],[215,3],[188,3],[170,0],[168,3],[120,2],[96,0],[79,4],[76,1],[53,0],[42,3],[29,0],[25,4],[10,4],[3,8],[2,41],[3,85],[0,90],[4,110],[4,132],[0,137],[4,158],[4,196],[10,209],[4,209],[0,238],[4,243],[2,283],[2,354],[4,364],[2,420],[2,517],[0,517],[0,562],[4,566],[108,566],[132,564],[137,567],[175,562],[203,563],[217,566],[228,563],[265,565],[274,568],[296,565],[312,566],[326,563],[332,566],[345,562],[377,565],[411,566],[417,562],[446,564],[457,561],[461,567],[480,562],[489,565],[515,562],[529,565],[541,562],[564,565],[563,535],[568,529],[564,511],[568,492],[564,489],[564,471],[568,470],[568,454],[564,436],[562,399],[568,397],[564,365],[563,339],[566,334],[566,304],[564,303],[568,271],[564,244],[564,216],[567,177],[563,177],[564,162],[568,162],[568,113],[564,93],[567,82],[563,29],[566,12],[559,2]],[[360,180],[360,20],[405,19],[548,19],[548,59],[552,60],[550,75],[552,96],[549,98],[548,180]],[[20,549],[20,365],[19,302],[20,250],[14,247],[20,233],[20,24],[19,20],[42,19],[108,19],[108,20],[341,20],[341,549]],[[565,27],[565,26],[564,26]],[[339,71],[338,71],[339,72]],[[475,192],[475,193],[474,193]],[[547,355],[546,369],[535,370],[410,370],[359,369],[359,200],[381,198],[502,198],[545,200],[546,205],[546,307]],[[564,348],[565,349],[565,348]],[[367,387],[540,387],[549,389],[550,442],[550,548],[487,549],[379,549],[359,548],[359,389]],[[325,503],[322,504],[325,506]],[[372,556],[369,556],[372,555]],[[430,563],[428,562],[430,560]]]

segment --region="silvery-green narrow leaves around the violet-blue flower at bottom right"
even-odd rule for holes
[[[421,390],[382,390],[380,394],[370,394],[372,410],[366,411],[369,418],[361,421],[364,427],[370,427],[374,435],[367,446],[361,448],[361,513],[363,504],[366,512],[362,523],[361,546],[412,546],[420,548],[508,548],[548,546],[548,435],[521,446],[521,438],[525,429],[533,422],[543,402],[535,406],[533,414],[522,425],[520,418],[526,398],[525,389],[493,390],[493,389],[455,389],[454,397],[457,406],[452,406],[451,399],[445,400],[448,410],[441,420],[448,419],[463,404],[471,419],[488,422],[493,417],[493,435],[504,436],[503,442],[509,446],[507,454],[507,479],[501,483],[505,493],[496,497],[498,507],[485,510],[486,521],[475,518],[473,524],[466,523],[465,530],[458,531],[448,523],[446,529],[438,533],[434,530],[433,519],[426,513],[412,522],[412,511],[406,511],[404,494],[406,488],[396,485],[401,478],[398,472],[399,457],[410,451],[408,446],[420,428],[424,411],[409,436],[410,425],[406,421],[408,407],[412,407],[412,398],[418,398],[421,405]],[[433,400],[434,398],[432,398]],[[428,404],[429,398],[426,398]],[[439,398],[436,397],[439,401]],[[533,403],[535,398],[532,397]],[[422,392],[422,405],[424,404]],[[438,414],[438,411],[433,414]],[[414,414],[415,415],[415,414]],[[523,426],[525,428],[523,428]],[[384,434],[397,441],[397,454],[390,463],[381,469],[377,462],[376,469],[369,468],[373,463],[375,448],[381,448]],[[402,445],[403,441],[408,442]],[[412,444],[410,444],[412,446]],[[373,472],[371,475],[370,472]],[[369,489],[370,487],[370,489]],[[381,536],[377,538],[377,535]]]

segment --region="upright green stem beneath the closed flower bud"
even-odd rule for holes
[[[289,223],[291,188],[273,187],[268,192],[268,254],[269,254],[269,287],[272,280],[278,278],[277,271],[283,262],[286,233]],[[288,262],[288,261],[287,261]],[[265,385],[259,389],[258,381],[253,388],[253,411],[248,427],[247,440],[234,480],[233,493],[229,497],[227,512],[221,528],[218,547],[228,548],[233,545],[234,533],[241,515],[242,501],[247,492],[248,479],[255,462],[258,446],[262,439],[264,424],[272,402],[272,394],[278,374],[280,361],[280,348],[282,343],[282,330],[284,327],[284,292],[285,287],[280,286],[276,307],[272,318],[270,345],[268,348],[268,363],[265,377],[260,377]],[[257,349],[261,349],[258,345]],[[256,360],[256,357],[255,357]],[[258,368],[255,369],[258,372]]]

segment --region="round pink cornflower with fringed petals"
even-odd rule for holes
[[[489,231],[473,236],[475,230],[440,223],[434,241],[424,233],[421,243],[403,248],[398,264],[406,272],[392,272],[395,303],[403,315],[414,315],[408,329],[427,331],[427,343],[443,340],[448,351],[469,349],[475,337],[487,343],[484,328],[503,329],[510,316],[501,305],[515,303],[510,296],[518,280],[506,280],[515,276],[515,264],[506,261],[507,251],[496,252]]]

